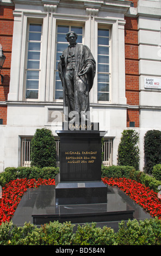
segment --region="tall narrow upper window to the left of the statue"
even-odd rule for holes
[[[39,99],[41,24],[29,24],[26,99]]]

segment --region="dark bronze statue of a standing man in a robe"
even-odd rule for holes
[[[58,64],[64,107],[68,109],[65,114],[68,117],[70,113],[70,117],[75,118],[75,113],[78,113],[85,121],[86,112],[89,111],[89,92],[95,77],[96,62],[87,46],[77,44],[75,32],[67,33],[66,40],[69,46],[60,56]]]

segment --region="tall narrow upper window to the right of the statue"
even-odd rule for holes
[[[109,101],[109,29],[98,28],[97,99]]]

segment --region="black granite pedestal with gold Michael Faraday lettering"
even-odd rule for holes
[[[103,132],[62,130],[57,134],[60,173],[55,179],[56,204],[107,203],[107,187],[101,180]]]

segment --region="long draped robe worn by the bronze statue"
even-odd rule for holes
[[[79,114],[81,112],[89,111],[89,92],[93,86],[96,73],[96,62],[89,48],[85,45],[76,44],[75,70],[73,71],[74,109],[71,109],[65,78],[68,54],[69,47],[63,52],[65,64],[62,65],[61,60],[58,64],[59,77],[63,86],[64,107],[67,107],[66,109],[68,109],[68,113],[64,113],[66,116],[68,116],[71,111],[76,111]],[[90,66],[89,73],[80,76],[80,71],[84,70],[87,66]]]

